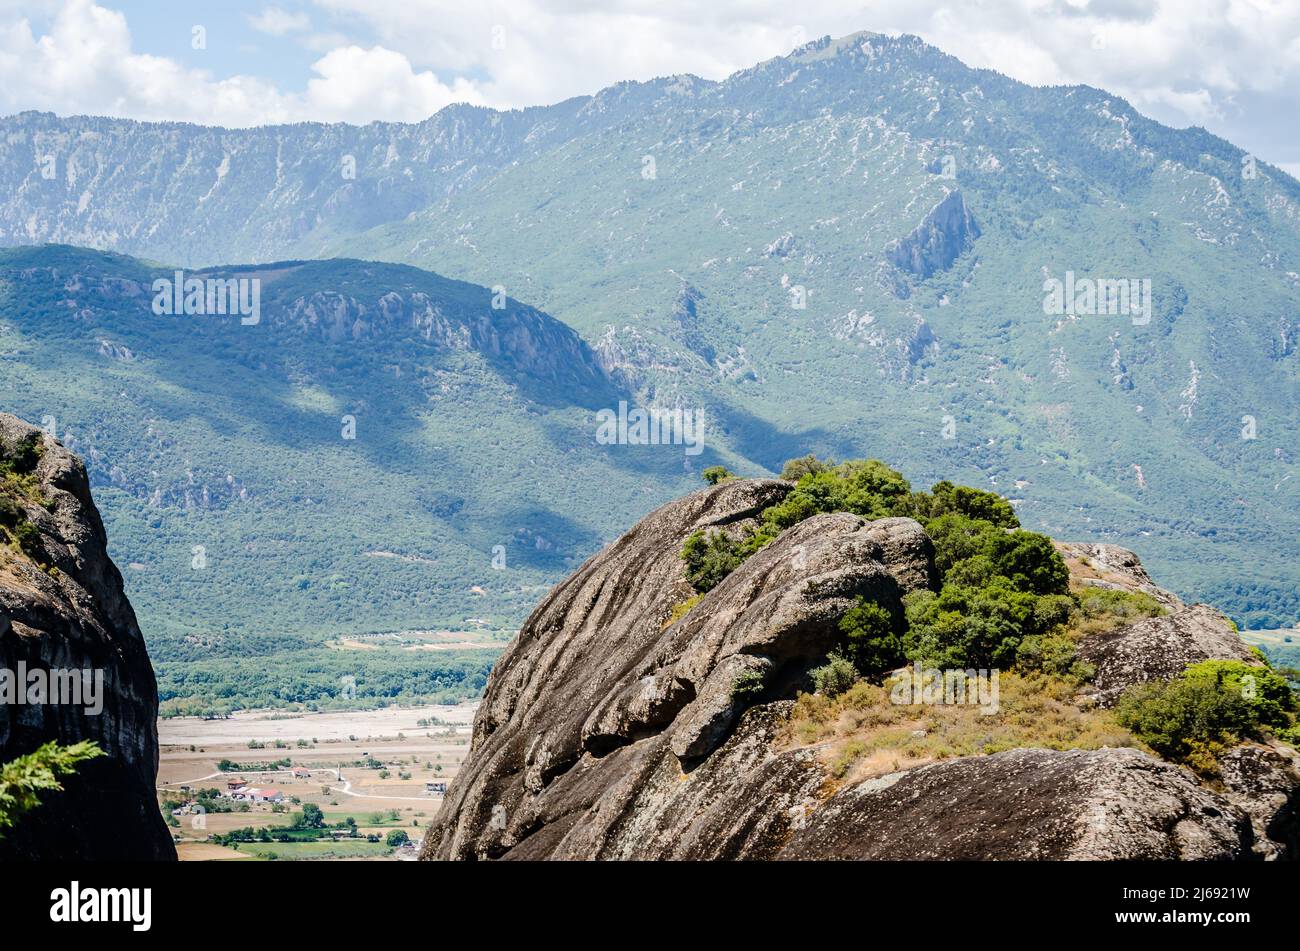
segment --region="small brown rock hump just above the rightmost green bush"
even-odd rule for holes
[[[1170,679],[1202,660],[1260,664],[1231,621],[1208,604],[1178,608],[1079,642],[1079,657],[1097,669],[1089,696],[1104,707],[1135,683]]]

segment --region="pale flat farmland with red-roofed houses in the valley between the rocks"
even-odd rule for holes
[[[177,852],[182,861],[413,857],[390,835],[422,838],[441,804],[429,785],[455,777],[474,709],[462,703],[160,720],[159,805]],[[238,780],[261,790],[256,800],[229,796]],[[304,828],[312,807],[318,818]]]

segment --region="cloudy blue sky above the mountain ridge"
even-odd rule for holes
[[[0,0],[0,113],[419,121],[723,79],[859,30],[1096,86],[1300,177],[1300,0]]]

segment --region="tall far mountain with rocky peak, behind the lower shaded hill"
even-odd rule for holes
[[[637,401],[705,407],[749,473],[889,457],[1244,624],[1300,620],[1300,184],[1104,91],[858,34],[412,125],[3,122],[3,240],[499,285]],[[1149,281],[1149,321],[1045,313],[1067,274]]]

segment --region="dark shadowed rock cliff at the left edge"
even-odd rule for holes
[[[32,438],[40,431],[0,413],[6,453]],[[84,468],[61,446],[43,446],[34,476],[44,504],[0,488],[39,531],[26,553],[0,547],[0,669],[101,672],[103,709],[0,705],[0,761],[52,739],[94,739],[108,755],[81,764],[62,792],[43,794],[0,839],[0,859],[176,859],[153,792],[157,689],[144,639]]]

